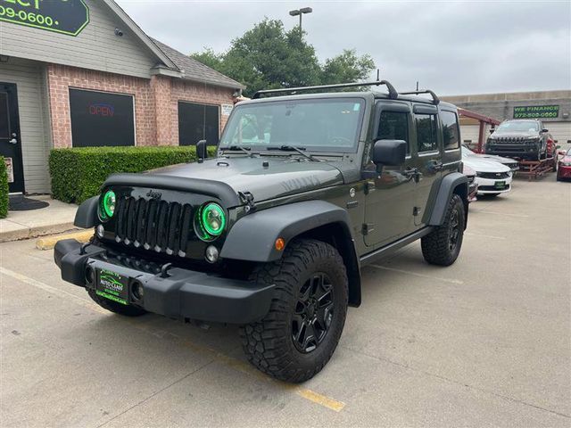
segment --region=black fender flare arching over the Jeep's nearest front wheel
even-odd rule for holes
[[[311,231],[323,226],[335,226],[343,236],[337,243],[349,278],[349,304],[360,305],[360,263],[351,234],[351,223],[346,210],[325,201],[294,202],[267,210],[254,212],[240,218],[230,228],[220,251],[224,259],[269,262],[281,259],[283,251],[277,251],[277,238],[285,245],[296,236],[310,236]]]

